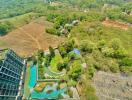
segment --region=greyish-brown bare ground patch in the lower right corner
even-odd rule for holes
[[[132,76],[99,71],[93,83],[99,100],[132,100]]]

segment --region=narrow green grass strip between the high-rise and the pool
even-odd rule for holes
[[[30,67],[28,66],[26,69],[26,76],[25,76],[25,84],[24,84],[24,97],[28,98],[30,95],[30,90],[29,90],[29,79],[30,79]]]

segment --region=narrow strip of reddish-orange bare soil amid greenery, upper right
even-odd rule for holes
[[[121,28],[125,30],[131,27],[130,24],[119,22],[119,21],[112,21],[112,20],[105,20],[102,22],[102,24],[105,26],[117,27],[117,28]]]

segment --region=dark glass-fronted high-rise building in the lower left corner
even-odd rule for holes
[[[23,88],[24,59],[13,50],[0,50],[0,100],[16,100]]]

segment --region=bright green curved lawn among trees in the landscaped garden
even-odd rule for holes
[[[57,64],[63,62],[63,59],[60,54],[56,54],[54,58],[52,58],[50,62],[50,69],[54,72],[58,72]]]

